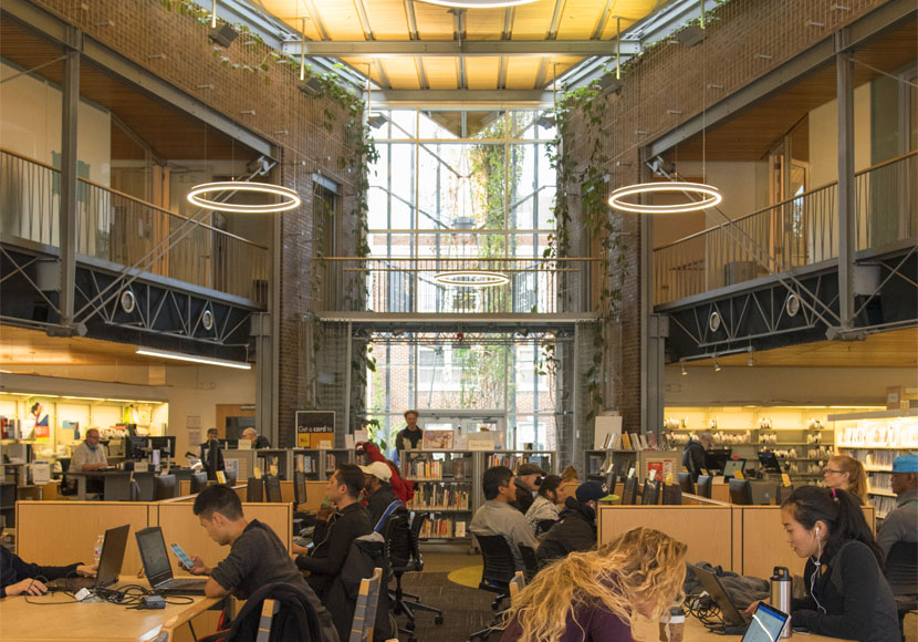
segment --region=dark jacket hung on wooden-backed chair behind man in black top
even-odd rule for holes
[[[338,638],[351,639],[351,625],[354,621],[354,611],[357,607],[357,593],[361,590],[361,580],[373,577],[373,569],[380,568],[385,573],[384,548],[386,546],[383,536],[378,532],[358,537],[351,543],[347,559],[341,568],[341,573],[334,579],[328,588],[328,597],[325,605],[332,613]],[[392,638],[393,631],[389,625],[389,592],[386,590],[386,577],[384,576],[379,586],[379,600],[376,604],[376,620],[374,623],[373,639],[383,642]]]

